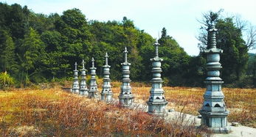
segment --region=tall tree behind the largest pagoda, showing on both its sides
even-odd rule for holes
[[[246,63],[248,61],[248,48],[241,29],[235,26],[232,18],[220,18],[221,12],[209,12],[204,14],[204,19],[201,21],[201,33],[198,36],[198,40],[201,41],[201,56],[204,55],[204,49],[207,47],[207,28],[210,23],[215,24],[215,28],[218,29],[216,36],[217,48],[224,50],[221,55],[222,78],[226,84],[230,84],[235,80],[239,80],[241,75],[246,70]]]

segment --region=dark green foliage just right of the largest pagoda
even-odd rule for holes
[[[241,30],[235,26],[232,18],[218,20],[216,28],[219,29],[217,47],[224,50],[221,58],[221,64],[224,67],[222,75],[227,83],[231,83],[239,80],[245,73],[249,58],[248,49],[243,41]]]

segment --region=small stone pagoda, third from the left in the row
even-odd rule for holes
[[[94,67],[94,58],[91,59],[91,80],[89,88],[89,97],[97,97],[96,67]]]

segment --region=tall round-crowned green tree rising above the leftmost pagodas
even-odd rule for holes
[[[64,11],[60,18],[55,15],[55,20],[56,30],[62,39],[62,59],[65,64],[75,64],[82,59],[89,62],[92,36],[86,16],[80,10],[72,9]],[[69,68],[68,73],[72,74],[72,68]]]

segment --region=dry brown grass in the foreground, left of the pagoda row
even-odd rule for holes
[[[140,89],[140,88],[138,88]],[[147,89],[147,88],[146,88]],[[117,88],[114,88],[117,97]],[[139,92],[134,92],[139,97]],[[148,94],[148,91],[144,91]],[[204,136],[204,129],[62,92],[0,92],[0,136]]]

